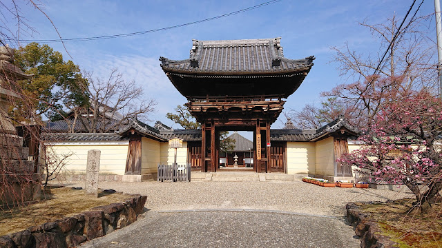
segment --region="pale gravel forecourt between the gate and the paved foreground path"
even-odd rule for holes
[[[84,183],[67,186],[84,187]],[[147,196],[147,209],[265,209],[324,216],[345,215],[345,204],[394,200],[411,194],[379,189],[327,188],[296,179],[291,183],[198,182],[115,183],[100,182],[103,189],[115,189]]]

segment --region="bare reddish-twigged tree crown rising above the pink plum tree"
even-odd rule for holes
[[[333,47],[336,52],[333,62],[338,65],[340,75],[350,83],[323,92],[323,96],[351,103],[354,117],[369,123],[386,101],[397,99],[409,90],[434,89],[436,94],[435,45],[427,37],[429,30],[424,17],[413,19],[401,30],[398,30],[395,16],[385,23],[372,25],[364,21],[360,24],[378,39],[378,52],[358,53],[347,43],[344,48]],[[381,61],[389,46],[387,61]]]

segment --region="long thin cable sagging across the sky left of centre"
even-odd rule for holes
[[[187,26],[187,25],[194,25],[194,24],[198,24],[198,23],[204,23],[206,21],[213,21],[215,19],[221,19],[221,18],[224,18],[224,17],[230,17],[230,16],[235,15],[235,14],[240,14],[242,12],[247,12],[247,11],[250,11],[250,10],[254,10],[254,9],[257,9],[257,8],[268,6],[270,4],[277,3],[279,1],[282,1],[282,0],[267,1],[265,3],[260,3],[260,4],[256,5],[256,6],[251,6],[249,8],[244,8],[242,10],[236,10],[234,12],[230,12],[230,13],[227,13],[227,14],[219,15],[217,17],[210,17],[210,18],[207,18],[207,19],[202,19],[200,21],[192,21],[192,22],[183,23],[183,24],[180,24],[180,25],[172,25],[172,26],[169,26],[169,27],[166,27],[166,28],[156,28],[156,29],[153,29],[153,30],[145,30],[145,31],[140,31],[140,32],[131,32],[131,33],[126,33],[126,34],[103,35],[103,36],[98,36],[98,37],[84,37],[84,38],[70,38],[70,39],[22,39],[20,41],[24,41],[24,42],[35,41],[35,42],[57,43],[57,42],[74,42],[74,41],[96,41],[96,40],[102,40],[102,39],[115,39],[115,38],[121,38],[121,37],[131,37],[131,36],[140,35],[140,34],[148,34],[148,33],[152,33],[152,32],[171,30],[173,28],[181,28],[181,27],[184,27],[184,26]]]

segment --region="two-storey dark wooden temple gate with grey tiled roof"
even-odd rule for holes
[[[283,99],[293,94],[309,73],[313,60],[314,56],[285,58],[280,38],[193,40],[189,59],[161,57],[162,69],[201,123],[201,171],[216,172],[220,132],[237,130],[253,131],[256,172],[280,172],[285,153],[267,145],[270,125],[282,112]]]

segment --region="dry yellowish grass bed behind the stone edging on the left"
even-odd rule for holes
[[[93,207],[118,203],[130,197],[128,194],[99,192],[98,198],[95,198],[86,196],[84,189],[48,188],[42,190],[42,200],[38,203],[0,211],[0,236],[79,214]]]

